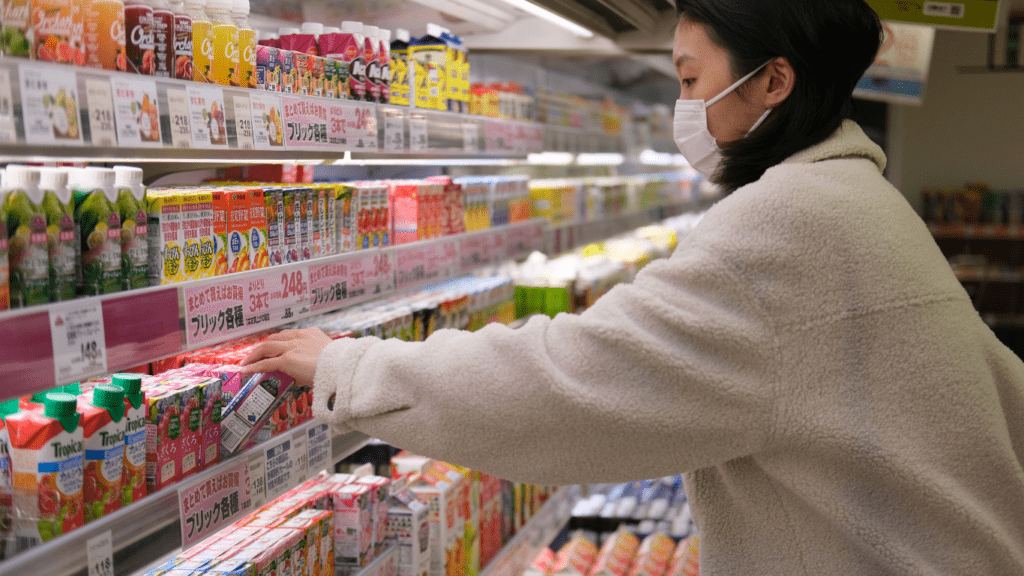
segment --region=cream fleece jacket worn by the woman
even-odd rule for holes
[[[582,315],[336,341],[314,412],[537,484],[686,472],[713,576],[1024,574],[1024,364],[884,166],[847,122]]]

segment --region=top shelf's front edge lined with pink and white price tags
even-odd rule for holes
[[[13,57],[0,57],[0,162],[52,162],[59,154],[67,162],[204,164],[328,161],[345,152],[354,159],[522,158],[626,148],[622,135],[602,131]]]

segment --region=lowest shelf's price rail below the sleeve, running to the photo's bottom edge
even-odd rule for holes
[[[558,536],[582,495],[579,486],[559,488],[479,576],[521,576],[541,550]]]

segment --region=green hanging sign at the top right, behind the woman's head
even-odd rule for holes
[[[955,30],[994,33],[999,17],[998,0],[952,2],[867,0],[867,3],[884,20],[924,24]]]

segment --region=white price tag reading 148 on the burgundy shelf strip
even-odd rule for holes
[[[49,308],[53,370],[57,382],[106,372],[103,313],[98,301],[79,300]]]

